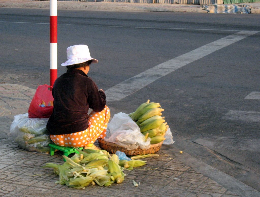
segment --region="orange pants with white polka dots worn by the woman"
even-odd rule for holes
[[[50,135],[50,138],[59,146],[92,146],[97,138],[104,138],[106,136],[109,118],[110,111],[107,106],[101,112],[93,110],[89,114],[88,128],[86,130],[70,134]]]

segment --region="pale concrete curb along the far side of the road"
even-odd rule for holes
[[[4,8],[41,8],[49,9],[49,1],[31,0],[0,0]],[[260,3],[246,3],[251,13],[260,14]],[[58,1],[58,9],[63,10],[100,10],[100,11],[152,11],[152,12],[194,12],[207,13],[202,5],[193,4],[152,4],[152,3],[122,3],[122,2],[76,2]]]

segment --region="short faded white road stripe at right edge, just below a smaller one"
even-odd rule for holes
[[[260,122],[260,112],[230,110],[222,119]]]

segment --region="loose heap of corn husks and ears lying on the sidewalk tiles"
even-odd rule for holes
[[[85,189],[89,184],[99,186],[109,186],[121,183],[125,179],[124,169],[132,170],[146,164],[146,161],[135,160],[140,157],[133,157],[132,160],[119,160],[118,155],[110,155],[105,150],[85,149],[84,151],[76,148],[79,154],[68,158],[63,155],[66,161],[62,164],[47,163],[43,167],[53,168],[54,173],[59,175],[56,184],[67,185],[77,189]],[[144,155],[148,157],[150,155]],[[152,154],[152,156],[159,156]]]

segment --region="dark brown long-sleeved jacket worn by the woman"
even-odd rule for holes
[[[88,128],[89,108],[100,112],[105,108],[105,92],[79,69],[68,69],[54,82],[53,112],[47,123],[49,134],[75,133]]]

